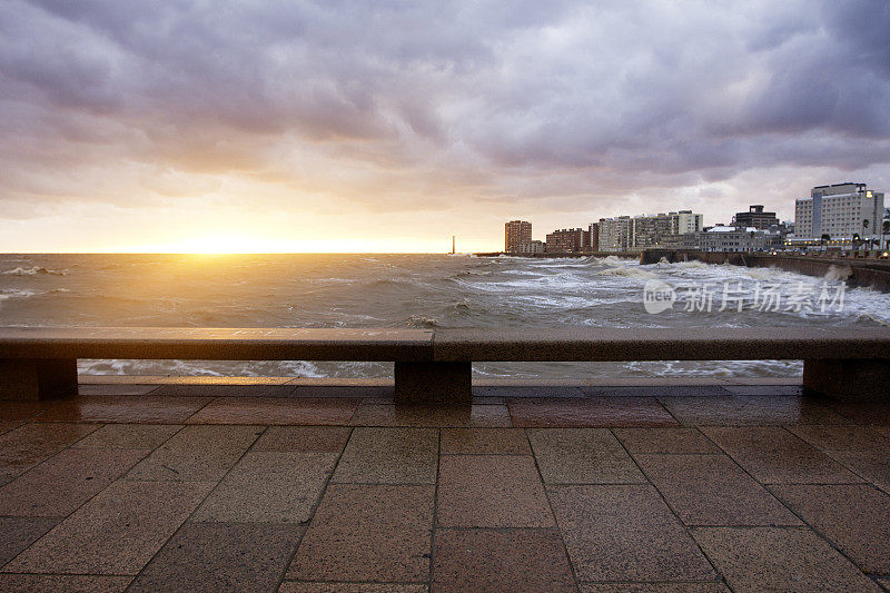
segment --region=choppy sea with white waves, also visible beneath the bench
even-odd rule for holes
[[[672,308],[657,314],[647,313],[643,305],[644,287],[653,279],[675,289],[678,297]],[[814,278],[698,261],[640,266],[616,257],[0,255],[0,325],[4,326],[476,327],[494,332],[565,326],[724,327],[726,332],[762,327],[764,333],[775,333],[795,326],[888,323],[890,295],[868,288],[842,290],[833,276]],[[80,370],[385,377],[392,375],[392,364],[82,360]],[[756,377],[800,370],[799,362],[779,360],[474,365],[477,376],[492,378]]]

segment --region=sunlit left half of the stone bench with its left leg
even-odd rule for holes
[[[0,328],[0,398],[77,394],[78,358],[382,360],[423,373],[432,353],[428,329]]]

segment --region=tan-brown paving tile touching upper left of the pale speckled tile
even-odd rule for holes
[[[186,426],[134,467],[127,480],[219,482],[261,432],[259,426]]]

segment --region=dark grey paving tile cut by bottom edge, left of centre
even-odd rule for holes
[[[303,527],[186,523],[128,591],[275,591]]]

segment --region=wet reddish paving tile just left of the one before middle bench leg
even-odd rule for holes
[[[358,399],[220,397],[189,418],[188,424],[349,424]]]

